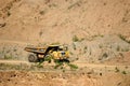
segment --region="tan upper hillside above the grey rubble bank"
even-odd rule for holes
[[[74,35],[130,35],[129,0],[1,0],[0,39],[69,43]]]

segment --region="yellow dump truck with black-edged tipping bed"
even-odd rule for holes
[[[28,60],[36,62],[52,57],[56,60],[67,60],[69,58],[69,52],[66,46],[62,45],[49,45],[44,47],[25,47],[26,52],[29,52]]]

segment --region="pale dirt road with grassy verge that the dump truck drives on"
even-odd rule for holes
[[[76,71],[78,72],[126,72],[130,73],[130,66],[109,66],[109,64],[101,64],[101,63],[87,63],[87,62],[72,62],[73,64],[78,66]],[[30,70],[37,72],[43,71],[55,71],[53,66],[46,64],[46,67],[37,69],[38,63],[28,62],[28,61],[20,61],[20,60],[0,60],[0,69],[2,70]],[[17,69],[18,66],[18,69]],[[16,68],[15,68],[16,67]],[[40,70],[40,71],[39,71]],[[70,69],[65,69],[66,71],[70,71]],[[57,70],[56,70],[57,71]],[[61,71],[61,70],[60,70]]]

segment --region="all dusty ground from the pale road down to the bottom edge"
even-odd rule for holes
[[[130,86],[130,66],[75,64],[78,69],[72,70],[0,60],[0,86]]]

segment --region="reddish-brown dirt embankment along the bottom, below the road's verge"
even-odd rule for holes
[[[0,86],[129,86],[129,74],[0,72]],[[110,80],[109,80],[110,78]]]

